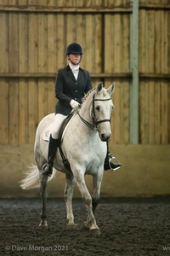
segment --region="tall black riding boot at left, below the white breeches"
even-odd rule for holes
[[[55,154],[57,152],[58,147],[59,147],[59,139],[54,139],[50,135],[49,144],[48,144],[48,162],[44,166],[42,166],[42,174],[51,176],[53,172],[54,158],[55,158]]]

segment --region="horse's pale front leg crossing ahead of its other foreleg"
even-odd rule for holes
[[[96,224],[96,220],[94,218],[94,212],[92,210],[92,197],[88,192],[88,188],[84,180],[84,175],[80,172],[80,170],[77,171],[77,174],[75,175],[75,180],[77,183],[77,187],[82,194],[82,200],[84,201],[88,210],[88,221],[84,223],[84,226],[89,230],[99,230],[99,227]]]

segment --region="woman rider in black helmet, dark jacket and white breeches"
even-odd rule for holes
[[[49,138],[48,162],[42,167],[42,173],[48,176],[53,172],[54,158],[59,147],[60,125],[72,109],[81,104],[84,94],[92,89],[88,71],[79,66],[82,59],[81,45],[77,43],[69,44],[66,49],[66,56],[69,64],[67,67],[59,69],[55,81],[55,96],[58,102],[55,107],[53,131]],[[111,162],[112,158],[108,150],[105,158],[105,170],[120,168],[121,164]]]

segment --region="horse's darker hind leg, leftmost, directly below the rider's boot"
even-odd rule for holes
[[[41,174],[40,195],[42,198],[42,212],[41,212],[41,222],[39,225],[42,227],[48,226],[47,216],[46,216],[47,182],[48,182],[48,175]]]

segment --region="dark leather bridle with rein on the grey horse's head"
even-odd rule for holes
[[[93,129],[94,131],[98,130],[98,125],[104,122],[110,122],[111,123],[111,119],[102,119],[102,120],[97,120],[96,118],[96,114],[95,114],[95,108],[94,108],[94,102],[107,102],[107,101],[111,101],[111,98],[108,99],[95,99],[95,95],[93,96],[93,109],[92,109],[92,113],[93,113],[93,121],[94,124],[90,124],[87,120],[83,119],[82,116],[80,115],[79,111],[77,111],[80,119],[82,120],[82,122],[85,125],[88,125],[88,127],[90,127],[91,129]]]

